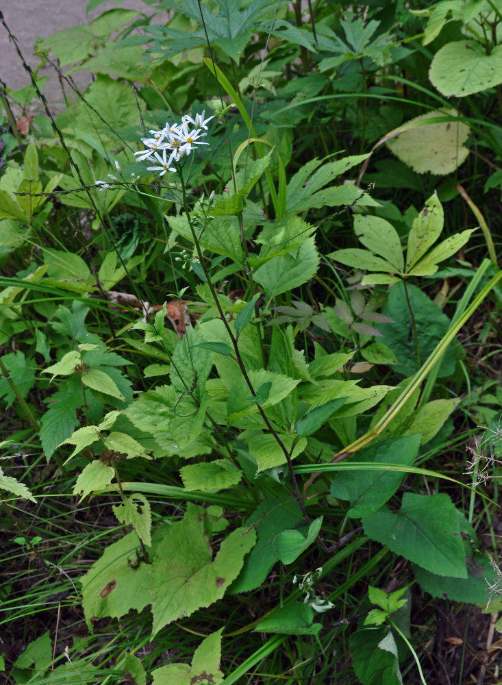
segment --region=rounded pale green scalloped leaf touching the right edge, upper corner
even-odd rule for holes
[[[502,45],[490,54],[475,40],[443,45],[429,69],[432,85],[445,97],[466,97],[502,83]]]

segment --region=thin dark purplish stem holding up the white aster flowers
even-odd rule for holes
[[[192,223],[192,219],[190,218],[190,210],[188,209],[188,203],[186,200],[186,187],[185,187],[185,182],[184,182],[181,166],[179,167],[179,177],[181,179],[181,194],[182,194],[182,199],[183,199],[183,207],[184,207],[185,214],[186,214],[186,220],[188,221],[188,226],[190,227],[190,233],[192,234],[192,240],[194,242],[195,249],[197,251],[197,258],[199,258],[199,262],[200,262],[201,267],[203,269],[205,278],[208,282],[208,286],[210,288],[211,295],[212,295],[212,298],[214,299],[214,303],[215,303],[216,308],[218,310],[218,314],[220,316],[220,319],[221,319],[221,321],[223,321],[223,325],[225,326],[227,334],[230,338],[232,347],[234,347],[236,362],[239,366],[240,373],[242,373],[242,376],[244,377],[244,381],[246,382],[246,384],[249,388],[249,391],[251,392],[251,395],[253,397],[256,397],[255,388],[253,387],[251,379],[249,378],[249,375],[246,371],[246,367],[244,366],[244,362],[242,361],[242,357],[240,356],[240,349],[238,346],[238,336],[235,336],[234,333],[232,332],[231,327],[227,321],[227,317],[225,316],[225,312],[223,312],[223,309],[221,308],[221,303],[218,299],[218,293],[216,292],[216,288],[214,288],[214,284],[212,282],[208,266],[205,264],[205,259],[204,259],[204,256],[202,254],[201,246],[199,245],[199,240],[197,239],[197,234],[195,232],[195,228],[194,228],[194,225]],[[286,457],[286,462],[288,464],[288,471],[290,473],[291,482],[292,482],[292,486],[293,486],[294,499],[297,500],[297,503],[301,509],[301,513],[303,514],[305,521],[307,521],[307,523],[310,525],[310,523],[311,523],[310,516],[308,515],[307,510],[305,510],[305,505],[303,504],[303,499],[300,495],[300,491],[298,488],[297,477],[293,471],[291,454],[288,451],[286,445],[284,445],[284,443],[282,442],[281,438],[279,438],[279,436],[277,435],[277,432],[276,432],[275,428],[273,427],[273,425],[271,424],[271,422],[268,420],[268,416],[266,416],[263,407],[258,402],[256,402],[256,406],[258,408],[258,412],[260,412],[260,415],[262,416],[262,419],[263,419],[268,431],[271,433],[271,435],[273,435],[273,437],[275,438],[275,441],[277,442],[277,445],[279,445],[279,447],[281,448],[281,451],[284,453],[284,456]]]

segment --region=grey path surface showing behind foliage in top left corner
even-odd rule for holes
[[[10,0],[0,2],[5,23],[12,34],[18,40],[23,57],[29,66],[39,64],[34,56],[33,48],[36,38],[46,38],[60,29],[66,29],[77,24],[85,24],[105,10],[111,10],[115,3],[109,1],[102,3],[86,14],[88,0]],[[140,12],[152,12],[148,5],[141,0],[124,0],[118,7]],[[57,75],[54,75],[51,66],[44,67],[40,72],[42,76],[48,76],[45,95],[51,104],[62,102],[61,86]],[[88,82],[88,75],[77,72],[74,76],[79,86]],[[18,58],[14,46],[9,40],[8,34],[0,24],[0,79],[7,88],[18,90],[29,85],[27,75],[21,60]],[[27,114],[40,111],[40,106],[34,103],[27,108]],[[18,112],[16,112],[18,114]]]

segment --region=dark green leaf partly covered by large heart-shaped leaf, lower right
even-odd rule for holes
[[[466,604],[480,604],[486,607],[488,586],[497,582],[497,573],[490,564],[490,558],[481,552],[474,552],[466,558],[467,578],[443,577],[414,566],[416,580],[423,590],[433,597],[448,597],[451,601]]]

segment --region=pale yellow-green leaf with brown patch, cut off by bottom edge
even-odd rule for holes
[[[208,635],[194,651],[192,664],[168,664],[152,671],[153,685],[220,685],[221,633],[223,628]]]

